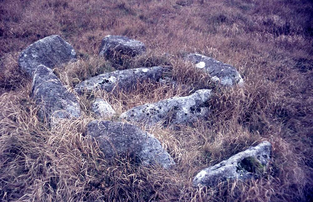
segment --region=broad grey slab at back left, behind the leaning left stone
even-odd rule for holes
[[[74,48],[58,35],[51,35],[29,45],[19,55],[18,64],[29,76],[38,65],[49,68],[75,59]]]

